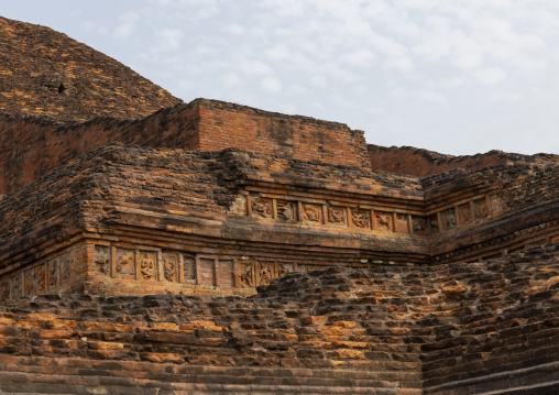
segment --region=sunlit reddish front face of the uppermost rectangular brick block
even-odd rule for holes
[[[201,151],[229,146],[303,161],[369,167],[363,132],[346,124],[200,101]]]

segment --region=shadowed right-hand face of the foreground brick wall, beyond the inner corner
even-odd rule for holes
[[[436,267],[426,395],[559,393],[558,248]]]

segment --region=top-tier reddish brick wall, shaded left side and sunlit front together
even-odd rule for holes
[[[220,151],[240,147],[305,161],[368,167],[363,133],[305,117],[198,99],[134,121],[59,123],[0,114],[0,195],[109,142]]]

